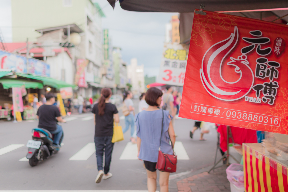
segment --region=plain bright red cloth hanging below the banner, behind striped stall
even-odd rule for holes
[[[242,143],[257,143],[256,130],[244,129],[240,127],[230,126],[234,143],[242,145]],[[220,147],[223,152],[227,150],[227,127],[226,125],[220,125],[217,129],[220,133]],[[232,139],[229,138],[229,143],[232,143]]]

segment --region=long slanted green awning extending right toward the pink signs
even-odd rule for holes
[[[71,85],[69,83],[66,83],[65,81],[59,81],[56,79],[52,79],[50,77],[42,77],[42,76],[36,76],[36,75],[24,74],[24,73],[16,73],[16,74],[21,77],[26,77],[29,79],[36,79],[36,80],[42,81],[43,85],[51,86],[56,89],[60,89],[62,87],[72,87],[72,88],[77,87],[76,85]]]

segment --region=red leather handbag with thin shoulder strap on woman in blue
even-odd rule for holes
[[[163,132],[163,121],[164,121],[164,112],[162,111],[163,119],[162,119],[162,129],[161,136]],[[164,172],[175,173],[177,165],[177,155],[175,155],[173,150],[173,155],[169,155],[166,153],[162,153],[161,151],[161,137],[160,137],[160,145],[159,145],[159,153],[158,160],[156,163],[156,169]]]

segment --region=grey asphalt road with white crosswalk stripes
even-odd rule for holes
[[[134,102],[137,106],[138,101]],[[125,126],[121,111],[119,115],[120,125]],[[124,134],[124,141],[114,145],[110,167],[113,177],[95,184],[98,170],[95,153],[93,153],[93,114],[71,115],[67,120],[69,120],[67,123],[62,124],[65,137],[61,151],[48,160],[40,162],[36,167],[30,167],[23,157],[28,151],[25,145],[32,138],[31,130],[37,127],[38,122],[0,122],[0,191],[147,190],[146,170],[142,161],[135,159],[137,147],[129,142],[130,130]],[[210,166],[214,162],[216,130],[205,134],[206,141],[199,141],[199,130],[196,130],[194,139],[189,137],[193,125],[193,120],[179,118],[175,121],[176,141],[179,141],[176,152],[181,158],[177,164],[177,172],[170,176],[171,181],[191,171]],[[7,146],[16,149],[7,152],[5,150]],[[81,150],[85,153],[84,156],[87,156],[87,160],[70,159]]]

